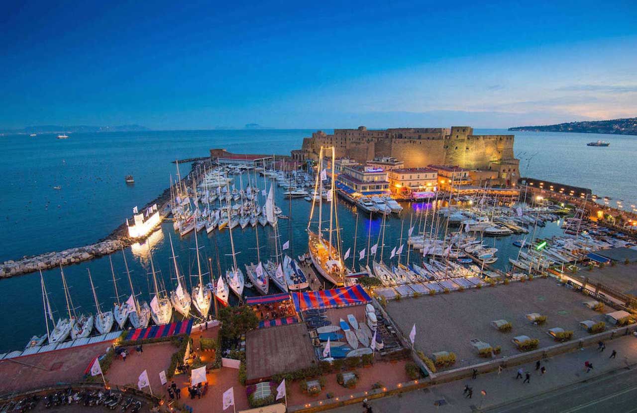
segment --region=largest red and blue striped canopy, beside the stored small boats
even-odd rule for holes
[[[296,311],[306,311],[319,308],[348,307],[371,302],[368,293],[362,286],[356,284],[349,287],[334,288],[333,290],[306,291],[292,293]]]

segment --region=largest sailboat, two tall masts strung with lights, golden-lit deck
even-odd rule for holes
[[[334,165],[334,147],[329,146],[320,148],[320,156],[318,157],[318,173],[314,184],[314,192],[321,193],[323,191],[323,179],[326,178],[326,172],[323,169],[324,150],[331,150],[332,152],[332,165]],[[336,286],[342,286],[345,284],[345,274],[347,269],[341,259],[340,254],[340,237],[338,230],[334,230],[334,216],[336,215],[336,197],[334,196],[334,173],[330,173],[331,188],[327,192],[327,202],[329,202],[329,238],[324,239],[322,230],[322,214],[323,214],[323,199],[318,199],[318,203],[313,201],[310,212],[310,220],[308,221],[308,248],[310,249],[310,259],[314,264],[314,267],[318,270],[318,273],[323,276],[327,281],[335,284]],[[318,204],[318,206],[317,206]],[[318,230],[313,232],[310,230],[312,222],[312,216],[314,209],[318,207]],[[336,246],[333,244],[333,232],[336,231]]]

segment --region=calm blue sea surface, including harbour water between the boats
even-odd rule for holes
[[[108,134],[72,134],[69,139],[55,139],[52,134],[35,138],[25,136],[0,137],[3,144],[3,162],[0,163],[0,205],[3,216],[0,220],[0,261],[20,258],[47,251],[83,246],[108,235],[120,225],[131,208],[142,206],[168,186],[170,174],[175,174],[176,158],[206,156],[210,148],[225,148],[236,153],[286,154],[301,146],[301,139],[310,136],[312,130],[205,130],[205,131],[158,131]],[[501,134],[503,130],[476,130],[476,133]],[[608,148],[590,148],[587,142],[604,139],[610,141]],[[515,153],[521,158],[522,176],[580,185],[592,188],[598,195],[623,199],[629,206],[637,200],[637,186],[632,182],[631,168],[637,157],[637,137],[608,136],[595,134],[547,134],[518,132]],[[183,165],[186,174],[190,165]],[[134,185],[125,185],[124,176],[132,174]],[[54,186],[62,186],[54,190]],[[260,178],[262,186],[262,178]],[[285,200],[280,188],[276,189],[277,204],[290,220],[280,221],[280,237],[290,239],[290,255],[306,252],[306,234],[310,202],[303,199]],[[613,201],[614,202],[614,201]],[[409,227],[412,211],[427,209],[427,205],[405,205],[404,221],[391,218],[385,230],[385,258],[400,242],[401,227],[404,237]],[[371,243],[378,239],[381,230],[380,218],[369,220],[359,215],[355,229],[355,210],[340,203],[340,226],[343,228],[344,250],[360,251],[366,246],[368,234]],[[538,236],[550,236],[561,231],[557,224],[541,228]],[[166,222],[155,232],[149,244],[153,251],[155,268],[159,277],[171,288],[174,284],[171,270],[168,237],[173,237],[178,263],[183,274],[197,274],[194,259],[194,234],[180,239]],[[256,261],[255,232],[253,228],[234,230],[234,241],[238,263]],[[258,228],[261,259],[273,254],[274,240],[271,227]],[[356,235],[356,237],[354,236]],[[218,267],[222,270],[232,264],[227,230],[210,235],[199,233],[199,246],[204,266],[211,267],[215,277]],[[489,239],[499,248],[500,259],[496,267],[505,268],[510,255],[517,249],[513,239],[519,236]],[[216,248],[215,248],[216,246]],[[218,249],[218,255],[216,253]],[[134,246],[125,250],[132,271],[136,293],[150,301],[148,279],[148,246]],[[380,248],[379,248],[380,253]],[[218,261],[217,261],[218,256]],[[352,253],[352,256],[354,254]],[[121,295],[128,295],[130,288],[124,274],[121,253],[111,256],[115,276],[119,279]],[[419,258],[412,255],[412,260]],[[404,259],[404,258],[403,258]],[[350,258],[348,263],[351,265]],[[394,259],[394,262],[396,260]],[[64,269],[74,304],[80,312],[95,312],[90,293],[87,269],[91,270],[97,295],[103,310],[111,309],[115,300],[108,257],[71,265]],[[206,273],[209,270],[205,271]],[[60,270],[43,273],[54,312],[64,314]],[[204,277],[210,277],[206,274]],[[0,319],[11,320],[0,323],[0,353],[21,349],[35,333],[45,332],[42,298],[38,274],[1,279],[3,290],[0,299]],[[271,287],[273,290],[275,287]],[[254,295],[254,292],[247,291]],[[20,314],[19,318],[16,313]],[[56,314],[57,318],[57,314]]]

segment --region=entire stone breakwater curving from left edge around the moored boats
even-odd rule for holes
[[[187,186],[192,183],[192,172],[196,169],[197,165],[199,165],[199,162],[194,162],[189,174],[182,178],[182,181]],[[166,188],[159,197],[148,202],[148,204],[141,208],[140,211],[143,211],[143,209],[148,208],[153,204],[157,204],[161,218],[166,218],[166,216],[170,214],[170,188]],[[25,256],[24,258],[15,261],[5,261],[0,264],[0,278],[19,276],[20,274],[28,274],[29,272],[37,270],[47,270],[59,267],[60,265],[69,265],[92,260],[93,258],[99,258],[100,256],[115,253],[121,248],[131,246],[134,242],[141,242],[145,239],[146,237],[136,239],[129,237],[126,223],[122,223],[122,225],[115,228],[110,235],[97,241],[96,244],[90,244],[78,248],[69,248],[64,251],[50,252],[36,256]]]

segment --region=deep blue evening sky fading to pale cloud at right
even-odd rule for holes
[[[634,1],[303,3],[3,2],[0,128],[637,116]]]

